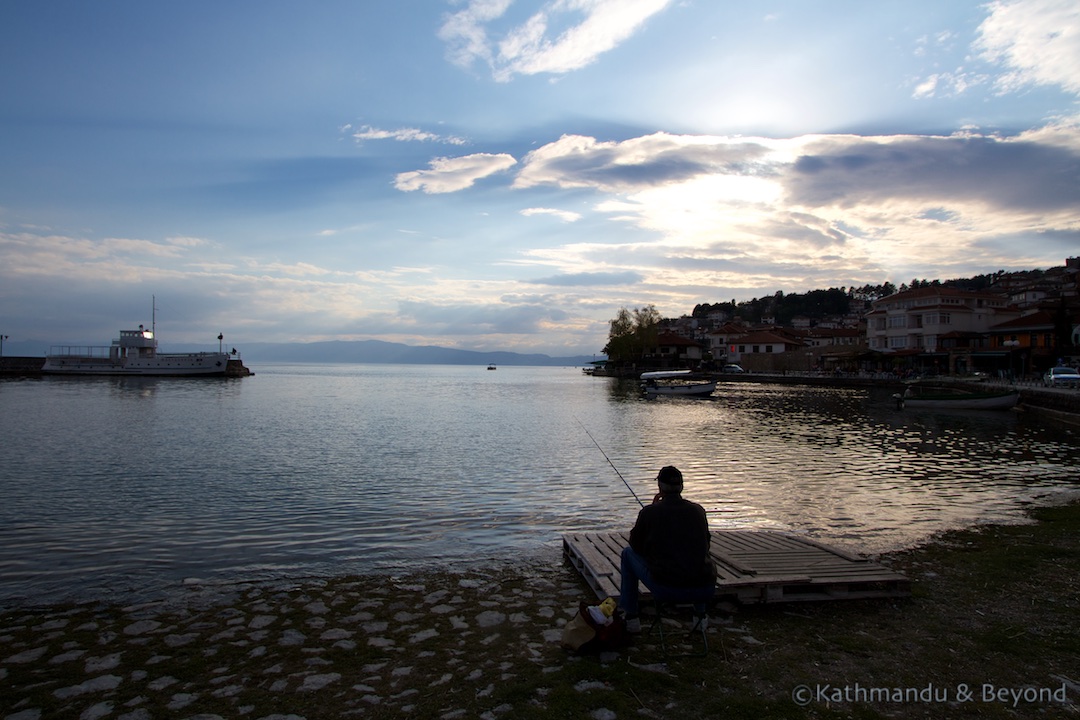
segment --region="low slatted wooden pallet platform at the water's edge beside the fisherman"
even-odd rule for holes
[[[858,555],[766,530],[714,530],[716,598],[743,604],[907,597],[910,581]],[[619,556],[626,532],[563,535],[563,553],[596,597],[619,597]],[[644,597],[648,589],[639,588]]]

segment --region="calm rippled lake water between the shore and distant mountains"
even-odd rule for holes
[[[869,553],[1080,488],[1076,431],[897,411],[887,390],[647,400],[577,368],[254,369],[0,381],[0,606],[555,560],[563,532],[638,508],[590,434],[646,502],[675,464],[713,528]]]

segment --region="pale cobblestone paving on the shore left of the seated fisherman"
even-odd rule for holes
[[[582,661],[559,647],[562,628],[588,599],[572,570],[556,565],[9,611],[0,615],[0,717],[542,712],[557,685],[605,687],[563,673]]]

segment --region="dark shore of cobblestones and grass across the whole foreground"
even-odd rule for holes
[[[903,601],[714,616],[576,657],[569,566],[0,614],[0,718],[1080,718],[1080,504],[881,558]],[[669,634],[677,634],[671,628]]]

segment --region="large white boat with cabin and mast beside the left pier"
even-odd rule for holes
[[[159,353],[153,330],[120,330],[111,345],[58,345],[45,355],[49,375],[224,376],[229,354]]]

